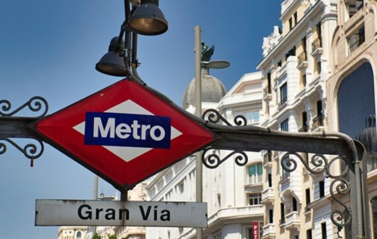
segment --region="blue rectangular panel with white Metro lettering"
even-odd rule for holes
[[[170,127],[169,117],[87,112],[84,143],[169,149]]]

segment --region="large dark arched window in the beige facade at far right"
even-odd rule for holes
[[[377,167],[374,77],[371,64],[360,65],[346,76],[338,91],[339,131],[363,143],[368,171]],[[375,165],[376,164],[376,165]]]

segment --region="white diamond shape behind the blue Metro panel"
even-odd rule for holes
[[[136,104],[132,100],[126,100],[119,105],[115,105],[114,107],[110,108],[109,110],[105,111],[106,113],[123,113],[123,114],[144,114],[144,115],[154,115],[141,107],[140,105]],[[78,125],[73,127],[76,131],[80,132],[81,134],[85,134],[85,121],[79,123]],[[170,140],[175,139],[182,133],[178,131],[176,128],[171,126],[170,128]],[[134,158],[145,154],[146,152],[150,151],[153,148],[138,148],[138,147],[123,147],[123,146],[102,146],[108,151],[112,152],[116,156],[120,157],[124,161],[128,162],[133,160]]]

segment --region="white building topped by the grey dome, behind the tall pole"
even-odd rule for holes
[[[237,115],[243,115],[248,125],[259,125],[262,108],[260,72],[248,73],[226,93],[219,79],[202,69],[202,110],[213,108],[233,123]],[[184,95],[184,108],[195,112],[193,81]],[[211,150],[220,158],[231,151]],[[237,154],[220,164],[216,169],[203,166],[203,201],[208,204],[208,228],[203,230],[205,239],[253,238],[252,223],[263,227],[262,157],[258,152],[247,152],[248,163],[240,167],[234,163]],[[159,172],[147,184],[150,201],[195,201],[195,155],[179,161]],[[261,234],[260,234],[261,236]],[[147,227],[147,239],[194,239],[195,228]]]

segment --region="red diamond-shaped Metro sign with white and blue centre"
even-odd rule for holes
[[[129,189],[218,140],[204,126],[128,79],[31,127],[119,189]]]

